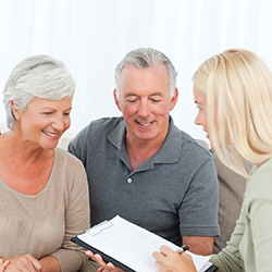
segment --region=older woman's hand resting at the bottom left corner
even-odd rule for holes
[[[17,256],[8,259],[10,264],[4,272],[45,272],[42,264],[30,255]]]

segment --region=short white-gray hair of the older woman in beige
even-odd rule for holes
[[[35,97],[61,100],[74,92],[75,82],[62,62],[44,54],[26,58],[14,67],[4,86],[7,126],[13,129],[16,123],[11,101],[23,112]]]

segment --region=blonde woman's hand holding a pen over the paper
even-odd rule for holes
[[[159,272],[197,272],[191,257],[184,252],[178,255],[171,248],[162,246],[161,252],[153,252]]]

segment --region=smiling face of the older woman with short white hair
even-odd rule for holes
[[[55,148],[71,124],[72,98],[57,101],[34,98],[23,112],[17,112],[13,103],[12,108],[21,139],[44,149]]]

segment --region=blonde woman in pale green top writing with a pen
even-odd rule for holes
[[[211,257],[221,271],[272,271],[272,74],[255,53],[233,49],[207,60],[195,73],[196,123],[221,161],[248,178],[227,246]],[[255,166],[248,173],[244,160]],[[196,271],[187,254],[154,252],[160,272]]]

